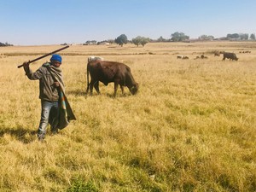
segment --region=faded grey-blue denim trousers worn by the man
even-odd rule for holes
[[[51,125],[51,131],[56,132],[59,122],[59,102],[47,102],[41,100],[41,119],[38,127],[38,138],[45,137],[47,125]]]

